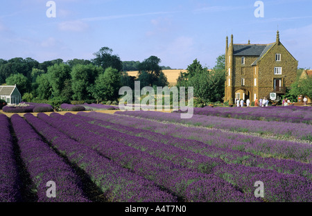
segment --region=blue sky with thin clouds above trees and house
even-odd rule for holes
[[[0,58],[91,60],[103,46],[121,60],[156,55],[161,65],[186,69],[196,58],[212,68],[234,43],[281,43],[303,68],[312,67],[312,1],[264,0],[55,0],[56,17],[46,16],[47,0],[0,0]]]

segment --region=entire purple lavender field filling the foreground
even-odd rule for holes
[[[179,117],[0,114],[0,201],[312,201],[311,124]]]

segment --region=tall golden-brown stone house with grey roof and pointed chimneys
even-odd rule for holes
[[[225,101],[270,98],[272,92],[279,99],[295,82],[297,66],[295,57],[279,41],[279,31],[271,44],[233,44],[231,35],[228,46],[226,37]]]

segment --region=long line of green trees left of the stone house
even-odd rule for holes
[[[133,89],[135,80],[144,86],[168,85],[160,62],[156,56],[137,61],[133,69],[139,71],[139,76],[132,77],[124,71],[127,62],[122,62],[108,47],[94,53],[92,60],[57,59],[39,63],[30,57],[0,59],[0,84],[17,84],[25,101],[117,100],[120,87]]]

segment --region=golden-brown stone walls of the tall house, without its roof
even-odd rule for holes
[[[281,61],[275,60],[275,54],[281,54]],[[227,55],[231,55],[228,52]],[[254,101],[254,94],[258,100],[260,98],[270,97],[270,92],[274,90],[274,79],[280,78],[281,87],[290,87],[295,82],[297,75],[298,62],[289,53],[286,48],[277,42],[270,48],[268,53],[258,62],[257,66],[251,66],[252,63],[257,60],[257,56],[245,56],[245,64],[241,64],[241,57],[243,56],[231,56],[232,64],[229,64],[229,57],[227,56],[226,69],[227,78],[225,82],[225,100],[230,99],[232,93],[232,99],[235,98],[235,93],[242,90],[248,94],[251,101]],[[228,75],[229,67],[233,66],[231,76]],[[275,75],[275,67],[281,67],[281,75]],[[232,83],[229,86],[229,78],[232,77]],[[245,85],[242,86],[242,78],[245,79]],[[254,85],[254,78],[256,78],[256,85]]]

